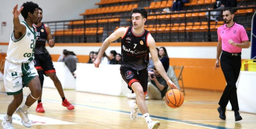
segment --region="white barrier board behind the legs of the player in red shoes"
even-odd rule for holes
[[[59,78],[63,89],[75,90],[76,80],[69,71],[68,67],[64,62],[53,62],[54,68],[56,70],[56,75]],[[50,77],[45,76],[45,81],[43,81],[43,87],[55,88],[54,83]]]

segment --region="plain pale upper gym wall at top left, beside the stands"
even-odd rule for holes
[[[18,4],[21,7],[23,2],[31,0],[0,0],[0,42],[9,42],[13,30],[13,7]],[[94,4],[100,0],[33,0],[43,9],[44,21],[64,21],[81,19],[79,13],[86,9],[97,8]],[[72,4],[70,4],[72,3]],[[23,17],[20,15],[20,21]],[[6,26],[1,26],[6,22]]]

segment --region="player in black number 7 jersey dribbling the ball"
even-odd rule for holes
[[[129,106],[131,109],[130,117],[132,120],[137,119],[137,109],[139,107],[143,117],[145,118],[149,129],[157,129],[160,126],[159,121],[152,121],[148,114],[147,105],[145,103],[148,83],[148,61],[149,52],[154,61],[154,65],[166,80],[170,88],[177,89],[177,86],[171,82],[161,61],[157,56],[156,44],[150,33],[144,29],[144,23],[147,21],[147,12],[144,8],[136,8],[132,10],[133,26],[129,28],[119,28],[113,32],[102,44],[99,54],[94,61],[94,66],[99,67],[101,56],[108,48],[109,44],[116,39],[122,38],[122,60],[120,73],[128,84],[128,88],[135,92],[136,102],[131,100]]]

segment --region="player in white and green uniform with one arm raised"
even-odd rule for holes
[[[24,21],[20,22],[19,15]],[[13,129],[12,115],[16,113],[21,117],[25,127],[31,127],[28,119],[28,109],[39,98],[42,89],[38,73],[34,68],[34,50],[36,32],[33,23],[39,18],[38,5],[33,2],[23,3],[18,10],[18,5],[13,8],[13,32],[9,42],[4,69],[4,85],[7,95],[14,97],[9,104],[7,113],[2,121],[4,129]],[[23,100],[22,88],[27,86],[31,93],[25,104],[21,107]],[[19,108],[18,108],[19,107]]]

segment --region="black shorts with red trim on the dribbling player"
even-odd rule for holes
[[[130,90],[132,90],[132,93],[134,93],[134,91],[131,88],[131,86],[134,82],[139,82],[141,84],[142,88],[143,88],[144,94],[147,93],[147,90],[148,90],[148,69],[134,70],[132,68],[121,65],[120,73],[122,75],[123,80],[128,84],[128,88]]]

